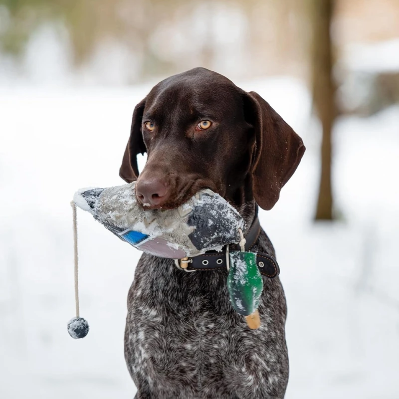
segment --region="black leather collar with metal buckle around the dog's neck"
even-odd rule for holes
[[[256,216],[254,221],[252,222],[251,227],[247,231],[245,235],[245,250],[250,251],[252,246],[255,244],[256,240],[260,234],[260,223],[259,218],[256,212]],[[184,261],[188,266],[181,267],[179,261],[176,261],[176,265],[179,268],[182,268],[185,271],[209,271],[216,269],[225,269],[226,265],[226,257],[228,256],[228,252],[236,252],[239,251],[240,248],[237,244],[230,244],[223,247],[221,252],[217,251],[207,251],[202,255],[193,256],[189,258],[187,261]],[[227,254],[226,254],[227,251]],[[258,269],[261,274],[267,276],[269,278],[273,278],[279,275],[280,268],[276,259],[273,256],[268,255],[267,253],[257,252],[256,253],[256,263],[258,265]]]

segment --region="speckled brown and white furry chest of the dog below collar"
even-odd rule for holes
[[[207,391],[235,398],[232,389],[277,379],[286,352],[282,291],[265,290],[261,328],[251,331],[229,302],[226,271],[186,273],[159,260],[150,272],[153,263],[142,258],[128,300],[125,352],[137,386],[145,380],[163,398]],[[271,305],[280,308],[277,318]]]

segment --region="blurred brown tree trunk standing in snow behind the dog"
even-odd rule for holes
[[[313,105],[323,128],[321,175],[316,220],[333,219],[331,133],[336,116],[331,21],[334,0],[310,0]]]

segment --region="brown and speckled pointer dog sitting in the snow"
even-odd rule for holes
[[[301,138],[257,93],[195,68],[158,83],[134,109],[120,176],[137,180],[147,208],[180,206],[208,188],[249,227],[271,209],[295,172]],[[136,156],[148,158],[139,175]],[[275,256],[261,229],[252,251]],[[278,277],[263,278],[259,329],[229,302],[227,269],[185,272],[143,254],[128,294],[125,359],[136,399],[284,398],[286,301]]]

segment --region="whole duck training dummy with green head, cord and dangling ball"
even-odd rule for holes
[[[83,338],[88,323],[79,316],[77,288],[76,206],[90,212],[123,241],[151,255],[189,259],[209,250],[239,244],[227,255],[227,287],[234,309],[247,317],[250,328],[260,325],[257,307],[263,282],[256,254],[245,252],[244,220],[226,200],[205,189],[176,209],[146,209],[136,200],[135,182],[105,189],[81,189],[71,202],[74,211],[76,317],[68,323],[72,338]]]

